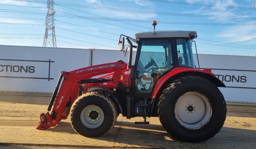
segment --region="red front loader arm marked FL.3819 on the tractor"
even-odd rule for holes
[[[127,63],[118,61],[114,63],[100,64],[90,67],[76,69],[70,72],[61,72],[59,81],[53,92],[49,103],[47,113],[40,115],[40,122],[37,129],[48,129],[56,126],[57,122],[66,119],[70,113],[70,108],[79,94],[79,87],[83,83],[108,82],[113,88],[117,87],[118,82],[123,82],[124,70],[127,68]],[[90,79],[93,76],[113,73],[111,79]],[[61,84],[62,81],[62,84]],[[58,96],[56,97],[59,85],[61,84]],[[56,100],[55,100],[56,98]],[[55,101],[55,103],[54,103]],[[54,103],[54,105],[53,105]],[[51,107],[53,109],[51,111]],[[51,111],[51,114],[49,112]]]

